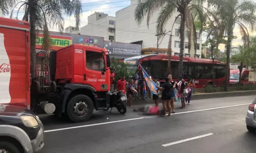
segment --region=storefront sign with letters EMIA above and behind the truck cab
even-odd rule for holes
[[[57,35],[50,35],[53,45],[55,47],[65,47],[72,44],[72,37],[68,36],[57,36]],[[42,45],[44,37],[42,34],[38,34],[36,38],[36,45]]]

